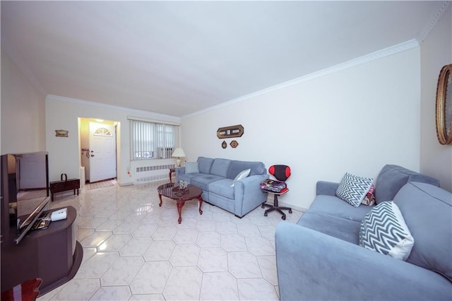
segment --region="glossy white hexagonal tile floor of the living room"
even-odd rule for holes
[[[59,195],[52,208],[78,211],[83,261],[76,276],[38,300],[278,300],[273,211],[244,218],[187,201],[182,224],[163,182],[82,189]],[[296,223],[302,213],[287,213]]]

